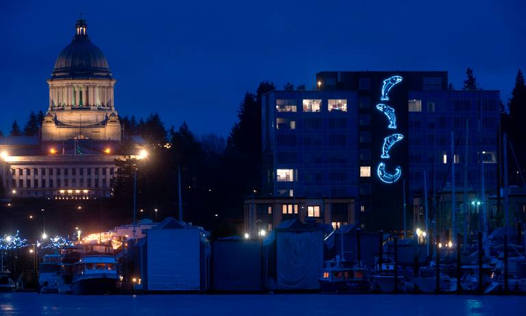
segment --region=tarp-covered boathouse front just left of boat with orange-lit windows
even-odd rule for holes
[[[323,231],[275,231],[277,289],[319,289]]]

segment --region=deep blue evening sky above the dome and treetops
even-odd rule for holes
[[[117,79],[119,114],[227,135],[260,81],[309,87],[323,70],[448,70],[460,88],[471,66],[507,102],[526,70],[524,3],[3,0],[0,129],[47,109],[46,79],[80,10]]]

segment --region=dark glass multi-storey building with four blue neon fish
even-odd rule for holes
[[[499,91],[449,89],[443,71],[323,72],[316,75],[316,90],[268,92],[262,98],[264,182],[255,200],[323,200],[310,205],[318,213],[297,218],[369,230],[401,231],[405,206],[411,228],[424,172],[431,196],[451,186],[452,161],[462,186],[467,159],[470,191],[497,189],[499,104]],[[325,201],[336,198],[349,201],[352,216],[327,220],[332,215]],[[245,200],[245,220],[279,224],[275,216],[259,218],[251,202]]]

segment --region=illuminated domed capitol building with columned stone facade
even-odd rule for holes
[[[77,21],[75,37],[55,62],[49,106],[38,136],[0,137],[8,196],[55,199],[111,196],[121,123],[108,61]]]

